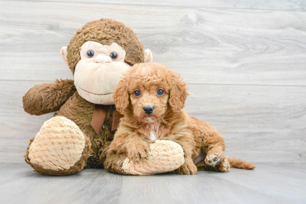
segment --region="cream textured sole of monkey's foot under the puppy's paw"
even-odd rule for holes
[[[139,162],[125,158],[122,170],[130,175],[151,175],[170,172],[184,164],[183,148],[170,140],[155,140],[150,144],[146,158]]]

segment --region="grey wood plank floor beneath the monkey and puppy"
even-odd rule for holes
[[[11,172],[14,168],[14,173]],[[303,165],[259,164],[255,170],[123,176],[85,169],[70,176],[0,164],[1,203],[305,203]]]

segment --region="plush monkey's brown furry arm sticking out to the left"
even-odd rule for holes
[[[37,116],[58,111],[76,90],[71,79],[35,85],[22,97],[23,109]]]

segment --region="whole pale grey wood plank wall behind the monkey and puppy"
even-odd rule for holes
[[[73,78],[59,51],[103,17],[130,26],[155,62],[181,74],[185,110],[220,130],[228,156],[306,163],[305,11],[303,0],[0,1],[0,162],[23,162],[53,115],[25,113],[23,94]]]

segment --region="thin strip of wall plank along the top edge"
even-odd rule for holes
[[[27,0],[25,0],[27,1]],[[33,1],[33,0],[30,0]],[[34,0],[63,2],[63,0]],[[65,0],[64,2],[86,2],[86,3],[110,3],[105,0]],[[306,2],[303,0],[117,0],[112,4],[140,4],[140,5],[160,5],[160,6],[184,6],[184,7],[216,7],[216,8],[244,8],[261,10],[285,10],[285,11],[306,11]]]

